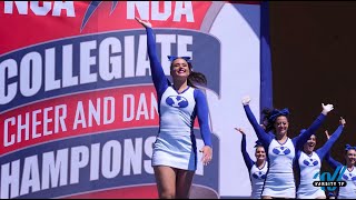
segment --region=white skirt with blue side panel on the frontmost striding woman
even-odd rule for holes
[[[189,171],[197,169],[197,148],[194,134],[160,132],[152,147],[152,166],[169,166]]]

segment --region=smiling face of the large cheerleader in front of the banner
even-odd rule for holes
[[[170,76],[174,80],[185,81],[190,74],[188,62],[185,59],[176,59],[171,63]]]

